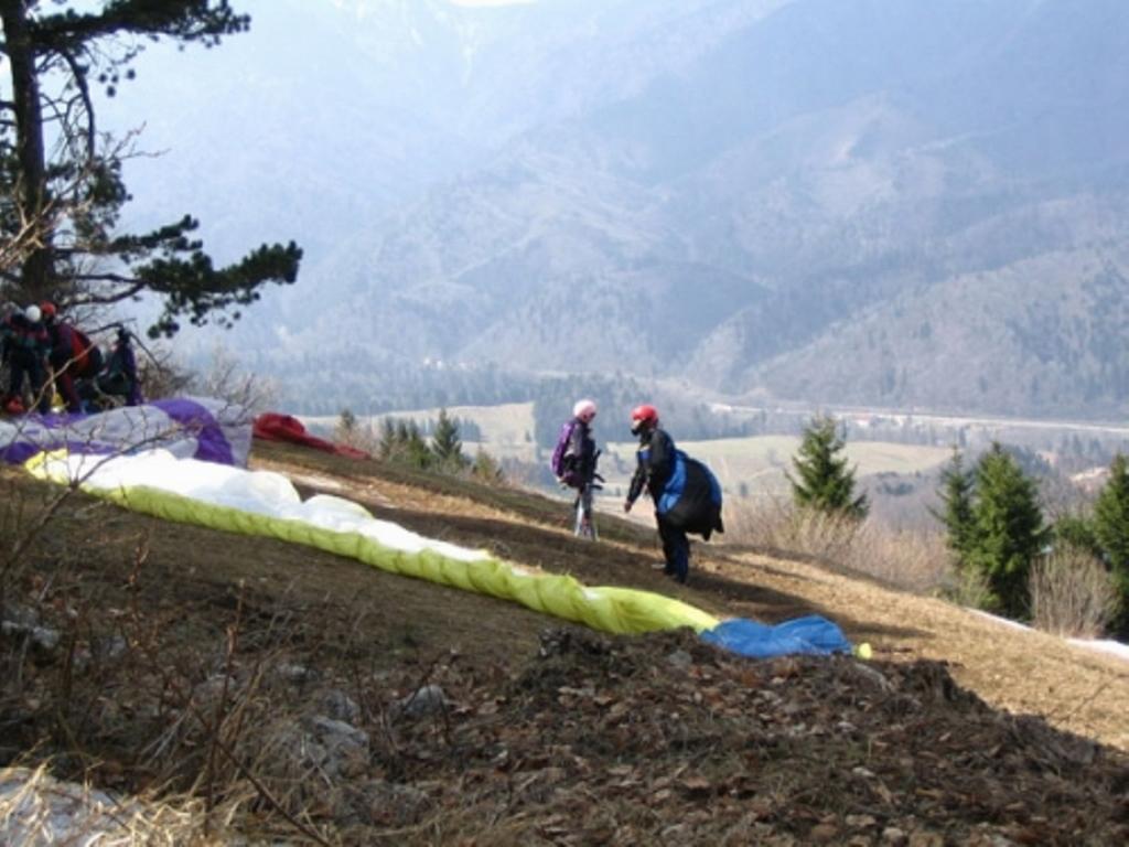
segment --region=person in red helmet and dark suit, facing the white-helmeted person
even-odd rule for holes
[[[623,510],[630,512],[644,488],[655,504],[658,538],[663,542],[663,573],[675,582],[685,584],[690,574],[690,540],[685,530],[674,525],[660,508],[663,491],[675,470],[677,452],[674,439],[658,425],[658,410],[649,403],[631,411],[631,434],[638,436],[636,472],[628,488]]]

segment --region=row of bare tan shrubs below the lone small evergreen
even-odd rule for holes
[[[726,533],[738,543],[808,556],[911,591],[936,588],[952,568],[938,533],[892,530],[844,515],[799,509],[781,498],[727,509]]]

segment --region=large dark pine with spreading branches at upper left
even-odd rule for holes
[[[246,30],[248,16],[228,0],[0,0],[0,23],[10,86],[0,102],[0,239],[5,262],[21,265],[16,299],[110,304],[149,292],[164,305],[149,328],[158,337],[174,334],[183,316],[230,325],[238,312],[228,309],[259,299],[261,286],[295,281],[294,242],[217,269],[191,216],[121,232],[124,145],[95,121],[93,89],[114,96],[143,42],[211,47]]]

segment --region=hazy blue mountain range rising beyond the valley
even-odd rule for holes
[[[169,150],[140,219],[307,247],[229,339],[295,408],[444,363],[1129,411],[1123,0],[236,6],[111,108]]]

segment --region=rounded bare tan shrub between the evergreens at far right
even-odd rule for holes
[[[1109,571],[1092,553],[1062,547],[1041,559],[1027,582],[1031,618],[1056,635],[1094,638],[1118,612],[1118,594]]]

